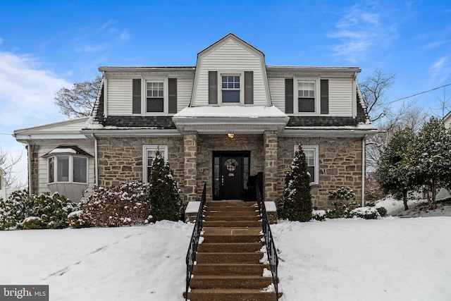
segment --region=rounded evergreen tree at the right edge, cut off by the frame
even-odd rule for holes
[[[451,132],[443,121],[431,118],[409,147],[405,163],[407,178],[424,188],[429,207],[437,207],[435,197],[440,188],[451,188]]]

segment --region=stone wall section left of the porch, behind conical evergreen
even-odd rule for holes
[[[142,180],[143,145],[168,146],[168,163],[174,172],[178,188],[183,191],[182,137],[98,138],[99,185],[111,186]]]

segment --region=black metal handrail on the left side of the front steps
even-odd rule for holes
[[[200,202],[199,211],[197,211],[196,222],[194,223],[194,229],[192,230],[190,247],[188,247],[188,252],[186,254],[185,300],[188,300],[188,290],[190,290],[192,269],[194,268],[194,262],[196,262],[197,246],[199,245],[199,238],[202,233],[205,202],[206,202],[206,183],[204,183],[204,190],[202,191],[202,199]]]

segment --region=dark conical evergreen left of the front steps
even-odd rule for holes
[[[178,221],[181,202],[177,183],[169,164],[157,150],[149,176],[147,197],[151,207],[152,221]]]

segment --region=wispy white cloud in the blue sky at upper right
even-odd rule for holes
[[[376,5],[362,7],[356,4],[346,8],[345,12],[345,16],[335,24],[336,30],[328,34],[328,37],[340,41],[333,49],[336,56],[357,63],[369,51],[385,47],[396,37],[388,12]]]

